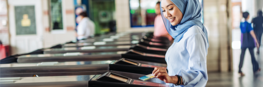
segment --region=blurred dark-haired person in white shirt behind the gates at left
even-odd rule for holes
[[[76,18],[77,25],[77,40],[87,39],[94,36],[95,24],[87,17],[86,12],[81,12]]]

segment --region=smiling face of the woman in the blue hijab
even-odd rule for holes
[[[173,26],[179,24],[183,18],[183,13],[171,0],[162,0],[161,6],[163,15]]]

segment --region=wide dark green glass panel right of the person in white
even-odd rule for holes
[[[96,35],[116,32],[115,0],[89,0],[89,10]]]

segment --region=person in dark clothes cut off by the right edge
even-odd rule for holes
[[[255,34],[258,37],[259,44],[261,45],[261,37],[263,33],[263,15],[261,10],[258,11],[258,16],[255,17],[251,23],[253,23]],[[259,54],[259,52],[260,50],[258,49],[257,53]]]

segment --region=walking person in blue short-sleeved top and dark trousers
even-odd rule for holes
[[[243,12],[243,17],[245,18],[245,22],[240,23],[240,29],[241,29],[241,55],[240,55],[240,63],[239,63],[239,71],[238,73],[241,76],[244,76],[245,74],[242,73],[241,68],[243,66],[244,62],[244,56],[246,49],[249,48],[250,55],[251,55],[251,61],[253,64],[253,72],[257,73],[261,69],[259,68],[259,64],[255,59],[254,55],[254,48],[257,46],[259,47],[259,41],[255,35],[255,32],[251,26],[251,23],[248,22],[249,19],[249,12]],[[256,42],[256,43],[255,43]],[[255,46],[256,45],[256,46]]]

